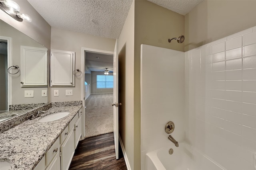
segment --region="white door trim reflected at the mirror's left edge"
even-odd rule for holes
[[[7,68],[12,66],[12,37],[0,36],[0,39],[7,41]],[[8,110],[9,106],[12,105],[12,75],[8,74]]]

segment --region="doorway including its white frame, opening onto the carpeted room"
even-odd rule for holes
[[[84,109],[86,108],[86,111],[85,110],[84,111],[87,118],[87,120],[85,120],[86,121],[85,125],[96,126],[92,128],[87,127],[84,131],[84,136],[91,137],[94,135],[104,134],[106,132],[109,133],[110,132],[109,128],[106,128],[106,131],[105,131],[104,125],[99,124],[99,121],[102,121],[103,124],[105,123],[106,127],[112,128],[112,125],[109,125],[107,123],[108,121],[105,121],[106,119],[104,119],[104,116],[111,115],[112,116],[111,123],[113,123],[113,111],[111,106],[113,101],[112,100],[113,89],[109,88],[109,81],[113,75],[112,73],[113,52],[82,48],[81,62],[83,63],[81,70],[84,71],[84,76],[82,76],[82,80],[81,80],[81,91],[82,91],[81,98],[83,101]],[[104,74],[106,70],[108,71],[108,74]],[[103,78],[104,80],[102,80]],[[89,107],[92,107],[92,108],[89,108]],[[104,109],[104,107],[106,107],[106,109]],[[108,110],[110,109],[111,109],[111,113],[108,113],[109,112]],[[102,112],[102,114],[97,113],[98,114],[97,116],[96,114],[93,113],[93,111],[96,111],[96,110],[98,110],[98,112]],[[104,131],[100,131],[100,129],[104,129]],[[90,130],[92,130],[92,132]],[[89,134],[88,134],[88,131],[90,131]]]

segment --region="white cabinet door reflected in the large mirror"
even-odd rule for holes
[[[20,46],[21,86],[47,86],[47,49]]]

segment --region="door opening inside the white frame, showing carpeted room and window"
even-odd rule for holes
[[[113,132],[113,55],[85,52],[86,138]]]

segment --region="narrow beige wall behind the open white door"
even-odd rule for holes
[[[124,144],[129,164],[134,170],[134,1],[130,7],[128,16],[118,38],[118,54],[122,49],[125,52],[125,103],[124,115],[120,125],[123,126],[123,131],[120,131],[120,136]],[[121,69],[121,68],[119,68]],[[139,161],[139,160],[138,160]]]

